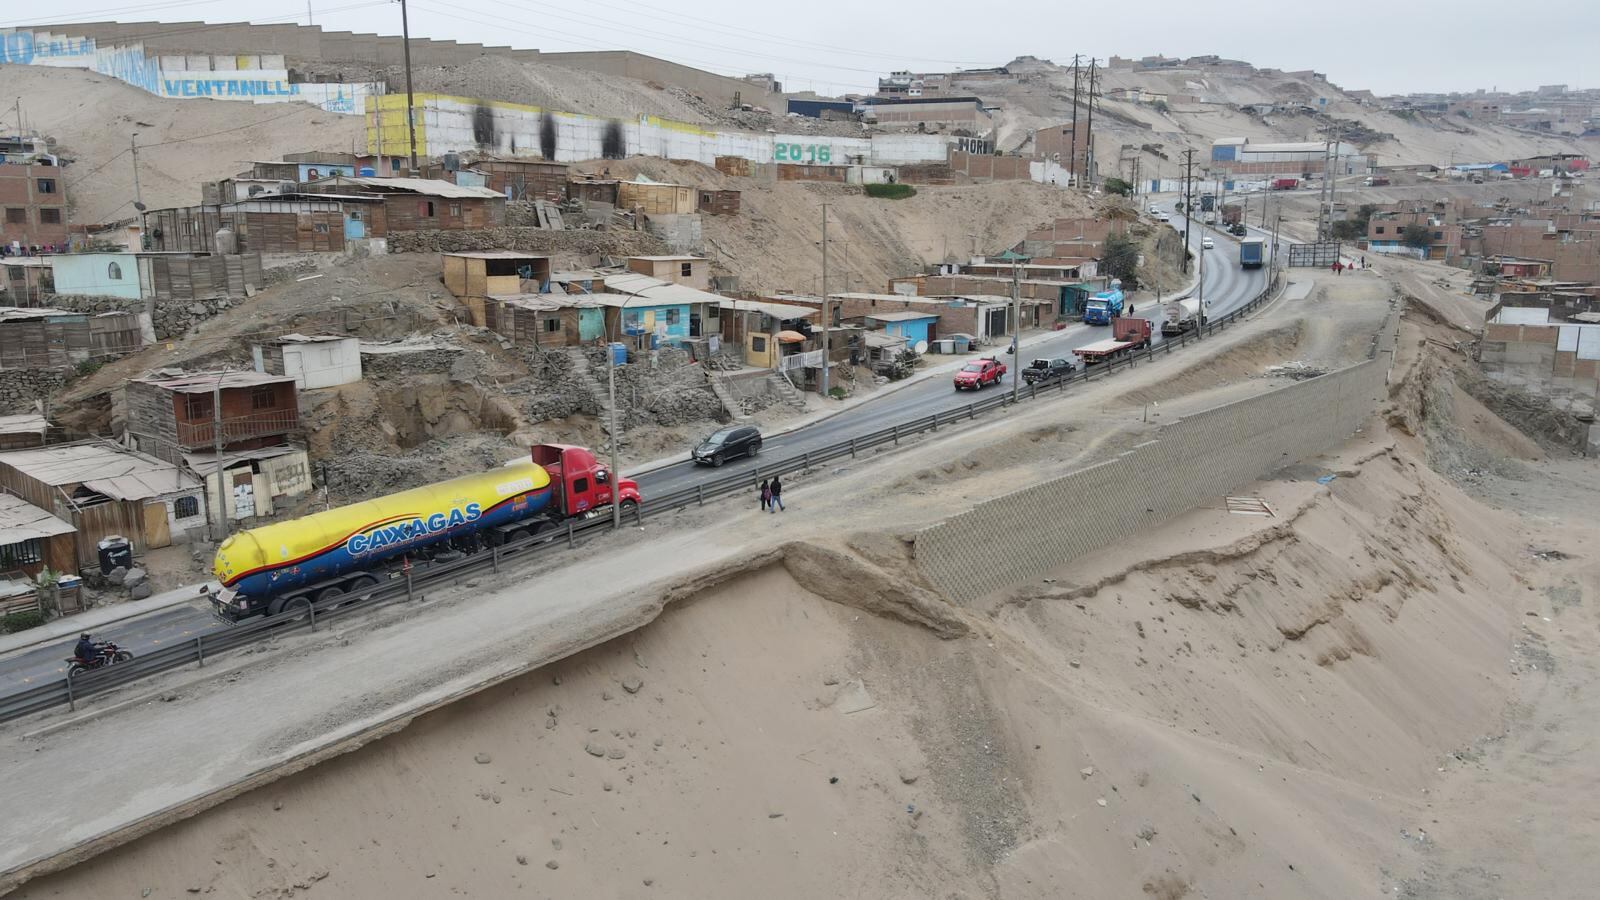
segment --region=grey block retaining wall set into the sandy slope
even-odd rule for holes
[[[1382,349],[1394,349],[1394,319]],[[917,535],[917,562],[965,602],[1037,578],[1283,466],[1322,455],[1371,416],[1390,357],[1218,407],[1098,466],[997,496]]]

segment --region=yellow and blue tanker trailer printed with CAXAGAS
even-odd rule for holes
[[[480,549],[491,533],[541,516],[550,493],[550,472],[518,461],[238,532],[218,546],[211,605],[230,621],[312,601],[322,609],[379,585],[411,556]]]

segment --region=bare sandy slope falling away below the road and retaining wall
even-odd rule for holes
[[[1125,391],[1038,408],[845,476],[848,519],[728,511],[803,543],[21,895],[1581,897],[1595,570],[1528,549],[1582,554],[1592,471],[1475,500],[1430,469],[1486,410],[1422,402],[1416,328],[1394,429],[1250,488],[1277,519],[1197,509],[955,618],[859,609],[925,594],[922,516],[1126,421]]]

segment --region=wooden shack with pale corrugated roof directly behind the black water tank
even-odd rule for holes
[[[144,552],[171,544],[174,528],[205,524],[198,479],[104,440],[0,453],[0,488],[77,530],[74,572],[98,562],[102,538],[126,536]]]

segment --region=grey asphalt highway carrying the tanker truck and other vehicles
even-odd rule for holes
[[[1162,208],[1170,208],[1170,202]],[[1173,215],[1171,226],[1182,231],[1182,218]],[[1200,251],[1200,240],[1210,234],[1214,242],[1213,250],[1205,251],[1205,301],[1206,315],[1224,315],[1256,296],[1266,285],[1266,271],[1245,271],[1238,266],[1238,243],[1214,229],[1205,229],[1194,223],[1192,247]],[[1157,304],[1134,304],[1134,312],[1146,319],[1160,319]],[[1074,348],[1104,340],[1110,330],[1104,325],[1072,325],[1035,341],[1022,349],[1021,362],[1006,360],[1010,373],[1005,384],[987,388],[986,392],[1010,391],[1011,378],[1021,367],[1034,359],[1050,359],[1070,356]],[[1160,331],[1155,333],[1160,341]],[[1005,354],[1005,348],[986,348],[981,354]],[[846,408],[838,415],[814,421],[787,434],[771,436],[763,442],[762,458],[786,458],[806,450],[816,450],[851,436],[862,436],[901,421],[912,421],[930,416],[936,412],[965,407],[974,399],[973,392],[957,392],[949,378],[934,376],[907,388],[886,392],[883,397],[867,400]],[[685,461],[646,472],[640,476],[638,485],[646,498],[674,490],[693,487],[699,480],[720,479],[730,472],[738,472],[754,466],[754,460],[728,461],[720,469],[696,466]],[[155,649],[181,641],[194,641],[195,636],[229,628],[211,613],[210,604],[195,599],[189,604],[170,607],[138,620],[117,623],[98,631],[96,641],[115,641],[122,649],[134,655],[149,653]],[[54,681],[67,673],[66,660],[72,657],[75,637],[62,639],[58,644],[18,650],[0,660],[0,697],[26,690],[42,681]]]

